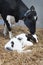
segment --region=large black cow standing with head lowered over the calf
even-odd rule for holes
[[[16,22],[19,19],[23,19],[24,23],[30,29],[30,33],[31,34],[35,33],[37,14],[34,7],[31,7],[30,10],[21,0],[0,0],[0,14],[8,28],[10,38],[11,38],[11,27],[9,22],[6,20],[8,15],[14,16]],[[35,19],[34,16],[36,16]]]

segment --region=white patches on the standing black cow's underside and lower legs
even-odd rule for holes
[[[8,16],[6,17],[6,20],[7,20],[8,23],[10,24],[10,27],[12,28],[12,25],[15,24],[15,17],[14,17],[14,16],[11,16],[11,15],[8,15]],[[5,25],[4,25],[4,31],[3,31],[4,36],[6,36],[7,32],[8,32],[8,28],[7,28],[6,24],[5,24]],[[10,31],[9,31],[9,37],[10,37],[10,38],[13,37],[12,32],[10,32]]]

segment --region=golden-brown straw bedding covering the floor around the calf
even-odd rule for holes
[[[27,28],[15,27],[12,29],[13,35],[20,34],[22,32],[28,33]],[[32,52],[17,53],[17,51],[6,51],[4,45],[9,40],[8,35],[3,36],[3,26],[0,26],[0,65],[43,65],[43,29],[37,29],[39,43],[32,47],[26,47],[31,49]],[[26,50],[25,49],[25,50]]]

